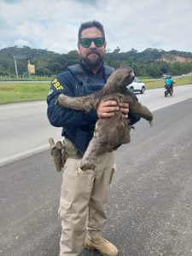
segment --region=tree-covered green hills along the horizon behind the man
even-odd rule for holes
[[[79,61],[79,53],[72,50],[67,54],[58,54],[47,49],[31,49],[17,46],[0,49],[0,76],[15,76],[15,60],[19,75],[27,75],[27,61],[36,67],[37,76],[52,76],[61,73],[68,66]],[[192,53],[163,49],[145,49],[138,52],[131,49],[121,52],[119,47],[113,52],[108,50],[105,63],[112,67],[131,66],[137,76],[161,77],[164,73],[180,75],[192,71]]]

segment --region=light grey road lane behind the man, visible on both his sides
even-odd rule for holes
[[[170,106],[192,97],[192,84],[175,87],[175,94],[165,98],[164,89],[138,94],[150,110]],[[49,124],[46,102],[25,102],[0,106],[0,165],[49,148],[48,138],[61,139],[61,128]]]

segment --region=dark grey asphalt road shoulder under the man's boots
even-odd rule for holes
[[[149,94],[141,101],[149,102]],[[173,97],[162,99],[170,103]],[[104,236],[119,247],[119,256],[189,256],[192,98],[165,108],[153,104],[154,126],[140,121],[131,143],[115,152]],[[49,150],[0,166],[0,173],[0,255],[57,256],[61,173]]]

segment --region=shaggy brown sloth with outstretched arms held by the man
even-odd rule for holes
[[[121,67],[110,75],[102,90],[80,97],[60,94],[55,104],[88,113],[90,110],[96,109],[101,101],[113,100],[118,104],[119,102],[127,102],[129,103],[129,113],[137,114],[140,118],[148,120],[149,124],[152,125],[153,114],[148,108],[137,102],[137,98],[126,87],[131,84],[134,78],[135,75],[131,67]],[[120,111],[116,111],[112,117],[98,119],[94,136],[84,152],[78,171],[95,170],[97,155],[113,151],[121,144],[130,143],[130,131],[134,127],[129,125],[129,122],[129,119],[125,119]]]

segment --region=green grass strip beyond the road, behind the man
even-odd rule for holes
[[[176,79],[177,85],[192,84],[191,77]],[[155,89],[164,86],[164,79],[143,79],[146,89]],[[44,101],[49,91],[49,81],[0,83],[0,104],[15,102]]]

